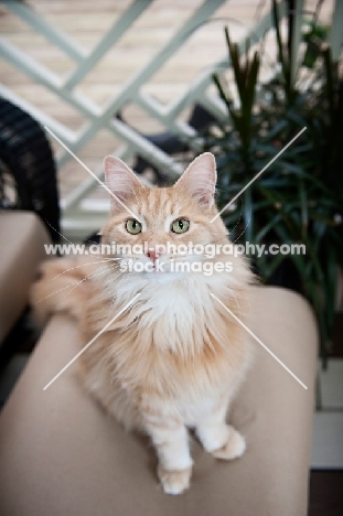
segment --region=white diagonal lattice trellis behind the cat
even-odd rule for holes
[[[180,174],[180,165],[159,148],[147,141],[137,131],[129,127],[124,121],[114,118],[127,103],[135,103],[142,108],[149,116],[159,120],[165,130],[178,136],[180,139],[192,139],[196,146],[196,131],[187,123],[178,119],[180,112],[186,107],[195,103],[205,107],[215,117],[221,118],[226,115],[221,100],[211,95],[208,89],[212,83],[212,73],[215,69],[221,69],[227,66],[227,57],[225,56],[218,63],[214,64],[213,68],[201,74],[196,80],[190,84],[187,90],[179,98],[174,99],[169,105],[162,105],[151,96],[142,92],[144,84],[149,82],[152,75],[180,49],[187,37],[206,22],[208,18],[226,1],[226,0],[206,0],[204,1],[190,17],[190,19],[179,29],[172,37],[157,52],[157,54],[136,72],[122,85],[121,90],[114,95],[105,107],[94,104],[89,98],[76,92],[77,85],[82,82],[86,74],[92,71],[105,53],[115,45],[118,40],[130,30],[132,23],[142,14],[153,0],[136,0],[121,14],[114,25],[104,34],[98,44],[89,54],[85,54],[83,49],[76,44],[69,36],[61,30],[53,26],[46,20],[39,17],[25,3],[19,0],[1,0],[2,3],[11,10],[15,15],[20,17],[25,23],[30,24],[36,32],[47,37],[47,40],[56,45],[60,50],[66,53],[74,62],[75,67],[69,76],[62,80],[57,75],[37,63],[30,55],[18,49],[4,37],[0,39],[0,55],[8,60],[12,65],[20,68],[32,79],[45,86],[47,89],[56,94],[64,101],[77,109],[86,117],[87,122],[78,131],[72,131],[67,127],[61,125],[57,120],[49,117],[42,110],[37,109],[32,104],[23,100],[13,92],[0,85],[0,95],[12,100],[21,106],[35,117],[41,123],[46,125],[74,153],[77,153],[87,142],[101,129],[107,129],[116,135],[122,141],[122,147],[117,150],[116,154],[124,160],[130,159],[139,153],[147,158],[164,174],[175,178]],[[301,4],[301,6],[298,6]],[[297,8],[301,13],[303,0],[297,2]],[[336,54],[340,52],[342,42],[342,30],[339,28],[339,21],[343,18],[343,2],[336,0],[335,17],[336,22],[332,26],[331,39],[333,50]],[[280,14],[285,15],[285,2],[279,4]],[[271,28],[271,18],[268,13],[257,26],[254,28],[254,40],[261,37],[266,31]],[[245,47],[245,40],[251,37],[251,33],[242,41],[242,49]],[[293,44],[299,44],[299,31],[294,34]],[[73,159],[68,152],[63,151],[57,159],[57,166],[61,169],[69,159]],[[103,176],[103,170],[95,171],[98,178]],[[97,185],[97,182],[89,176],[81,185],[74,189],[63,203],[63,230],[73,237],[73,234],[78,236],[89,234],[90,230],[98,228],[103,221],[104,214],[85,208],[83,201]]]

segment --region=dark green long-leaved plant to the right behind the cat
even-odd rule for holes
[[[228,116],[226,122],[206,132],[205,150],[217,159],[217,203],[223,208],[307,128],[223,218],[236,241],[304,244],[306,255],[264,254],[255,266],[267,283],[279,282],[282,270],[283,276],[288,270],[288,276],[297,279],[296,284],[288,280],[285,286],[296,287],[312,304],[325,358],[334,318],[336,268],[343,257],[343,87],[337,63],[332,62],[330,46],[324,43],[325,30],[318,30],[313,21],[304,35],[302,66],[292,77],[296,56],[289,42],[282,41],[276,1],[272,13],[279,72],[267,82],[260,78],[262,52],[243,56],[225,30],[236,99],[223,75],[214,75]]]

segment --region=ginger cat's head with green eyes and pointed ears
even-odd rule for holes
[[[130,271],[152,272],[151,279],[159,276],[162,280],[161,275],[182,272],[175,262],[208,260],[201,246],[226,241],[222,221],[212,222],[217,213],[212,154],[200,155],[173,186],[164,189],[143,185],[118,158],[106,158],[105,173],[116,198],[101,243],[111,245],[122,264],[130,265]]]

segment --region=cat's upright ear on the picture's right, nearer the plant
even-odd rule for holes
[[[204,208],[211,208],[214,204],[216,181],[215,158],[211,152],[204,152],[192,161],[176,182],[176,186],[190,193]]]

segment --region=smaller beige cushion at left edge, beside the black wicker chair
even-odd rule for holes
[[[46,243],[50,237],[35,214],[0,211],[0,343],[28,303]]]

